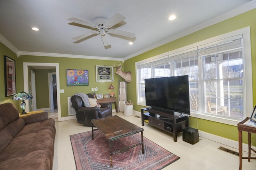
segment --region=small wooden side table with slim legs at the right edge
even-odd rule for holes
[[[251,150],[256,153],[256,150],[251,148],[251,133],[256,133],[256,125],[250,121],[249,117],[246,117],[244,120],[240,121],[237,124],[238,128],[238,145],[239,145],[239,170],[242,170],[242,159],[256,159],[256,157],[251,157]],[[242,131],[248,132],[248,157],[243,157],[243,139],[242,139]]]

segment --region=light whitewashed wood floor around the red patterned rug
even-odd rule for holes
[[[222,146],[238,152],[237,149],[202,138],[198,143],[191,145],[182,141],[182,135],[174,142],[169,133],[165,133],[145,123],[141,126],[141,118],[124,116],[124,113],[112,113],[118,115],[139,127],[144,128],[144,137],[160,145],[166,150],[180,157],[179,160],[165,167],[163,170],[238,170],[239,157],[222,150]],[[68,121],[56,121],[56,138],[54,150],[54,170],[76,170],[74,155],[70,143],[70,135],[91,131],[91,127],[78,124],[76,119]],[[113,160],[114,164],[114,160]],[[243,170],[256,170],[256,160],[243,160]]]

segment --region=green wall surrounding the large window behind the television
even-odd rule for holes
[[[166,43],[160,47],[147,51],[141,55],[128,59],[124,62],[124,66],[127,70],[132,72],[133,80],[132,82],[127,84],[127,99],[134,101],[134,110],[140,111],[140,108],[144,106],[136,105],[136,69],[135,62],[148,59],[150,57],[154,57],[156,55],[160,55],[162,53],[166,53],[168,51],[172,51],[174,49],[178,49],[184,47],[186,45],[190,45],[211,37],[215,37],[224,33],[228,33],[237,29],[241,29],[244,27],[250,26],[251,31],[251,51],[252,51],[252,64],[256,64],[256,9],[246,12],[244,14],[240,14],[236,17],[230,18],[228,20],[222,21],[220,23],[214,24],[212,26],[206,27],[189,35],[186,35],[182,38],[176,39],[170,43]],[[166,37],[167,38],[167,37]],[[256,105],[256,68],[252,67],[252,81],[253,81],[253,104]],[[252,108],[253,109],[253,108]],[[197,128],[197,119],[195,117],[190,116],[190,127]],[[238,130],[236,126],[226,125],[223,123],[217,123],[213,121],[208,121],[204,119],[198,119],[198,129],[201,131],[205,131],[207,133],[211,133],[214,135],[218,135],[221,137],[225,137],[228,139],[232,139],[238,141]],[[244,141],[247,139],[247,135],[244,134]],[[252,143],[254,146],[256,145],[256,135],[252,135]]]

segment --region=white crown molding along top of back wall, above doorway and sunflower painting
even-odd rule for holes
[[[123,61],[123,59],[121,58],[98,57],[98,56],[88,56],[88,55],[70,55],[70,54],[58,54],[58,53],[40,53],[40,52],[29,52],[29,51],[19,51],[19,55]]]

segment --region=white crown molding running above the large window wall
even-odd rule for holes
[[[248,11],[253,10],[255,8],[256,8],[256,0],[250,1],[250,2],[248,2],[248,3],[246,3],[246,4],[242,5],[242,6],[239,6],[238,8],[235,8],[233,10],[230,10],[230,11],[226,12],[225,14],[219,15],[219,16],[217,16],[215,18],[212,18],[212,19],[210,19],[210,20],[208,20],[208,21],[206,21],[204,23],[196,25],[196,26],[194,26],[194,27],[192,27],[190,29],[187,29],[186,31],[178,33],[178,34],[176,34],[176,35],[174,35],[172,37],[169,37],[168,39],[166,39],[164,41],[161,41],[159,43],[151,45],[150,47],[146,47],[145,49],[137,51],[136,53],[128,55],[128,56],[124,57],[124,61],[128,60],[128,59],[130,59],[132,57],[135,57],[137,55],[140,55],[142,53],[145,53],[147,51],[150,51],[152,49],[155,49],[157,47],[160,47],[161,45],[170,43],[170,42],[172,42],[172,41],[174,41],[176,39],[179,39],[181,37],[184,37],[186,35],[189,35],[191,33],[199,31],[200,29],[204,29],[206,27],[209,27],[209,26],[214,25],[216,23],[219,23],[221,21],[227,20],[227,19],[232,18],[234,16],[238,16],[238,15],[244,13],[244,12],[248,12]]]

